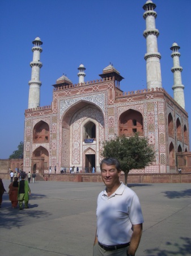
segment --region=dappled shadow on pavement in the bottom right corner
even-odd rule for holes
[[[160,250],[158,248],[146,250],[147,256],[172,256],[172,255],[191,255],[191,239],[188,237],[180,237],[182,240],[181,245],[179,243],[166,242],[167,246],[172,246],[173,250],[169,248]]]

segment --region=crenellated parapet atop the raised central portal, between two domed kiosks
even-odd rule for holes
[[[107,82],[107,81],[114,81],[114,77],[106,77],[103,79],[81,82],[80,84],[62,85],[60,87],[54,88],[53,92],[57,92],[58,90],[67,90],[67,89],[72,89],[72,88],[78,88],[78,87],[87,86],[87,85],[100,84],[100,82]]]

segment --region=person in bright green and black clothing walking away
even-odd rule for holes
[[[25,204],[25,208],[28,208],[28,200],[29,195],[31,195],[31,189],[29,188],[28,181],[24,180],[25,176],[21,177],[19,181],[19,192],[18,192],[18,201],[19,201],[19,209],[23,209],[23,200]]]

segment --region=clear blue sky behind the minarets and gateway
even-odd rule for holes
[[[9,158],[24,140],[24,110],[28,108],[33,46],[43,41],[40,105],[52,102],[52,85],[65,73],[78,83],[78,67],[86,67],[85,81],[99,79],[109,62],[125,79],[124,92],[146,88],[146,28],[142,0],[1,0],[1,133],[0,159]],[[185,109],[190,115],[190,0],[156,0],[158,51],[162,55],[163,88],[173,96],[173,42],[179,44]],[[191,125],[190,125],[191,127]]]

